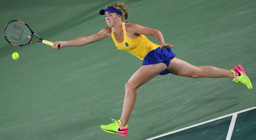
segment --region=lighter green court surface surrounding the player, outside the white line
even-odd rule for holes
[[[107,27],[99,10],[118,2],[1,0],[0,27],[3,33],[9,21],[21,20],[43,39],[70,40]],[[124,2],[131,11],[128,21],[160,30],[178,58],[224,69],[241,64],[256,82],[255,1]],[[100,125],[120,118],[124,85],[141,60],[117,50],[108,38],[61,50],[42,43],[12,46],[3,35],[0,42],[3,140],[141,140],[256,106],[254,89],[232,79],[157,76],[137,91],[128,136],[108,134]],[[13,52],[20,55],[16,61]]]

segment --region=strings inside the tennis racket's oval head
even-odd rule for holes
[[[15,45],[24,45],[31,40],[31,31],[23,23],[14,21],[7,25],[5,36],[8,41]]]

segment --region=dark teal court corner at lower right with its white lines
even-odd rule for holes
[[[234,112],[147,140],[255,139],[256,107]]]

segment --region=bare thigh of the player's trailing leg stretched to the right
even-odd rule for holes
[[[170,65],[167,67],[166,70],[171,74],[186,77],[193,77],[194,75],[196,75],[196,73],[200,71],[197,66],[191,65],[188,62],[176,57],[171,59]]]

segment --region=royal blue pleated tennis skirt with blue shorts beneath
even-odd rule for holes
[[[171,58],[175,57],[176,54],[172,52],[171,48],[161,49],[160,47],[150,51],[143,60],[142,66],[155,64],[155,63],[165,63],[167,67],[170,64]],[[169,74],[167,70],[162,71],[159,75]]]

